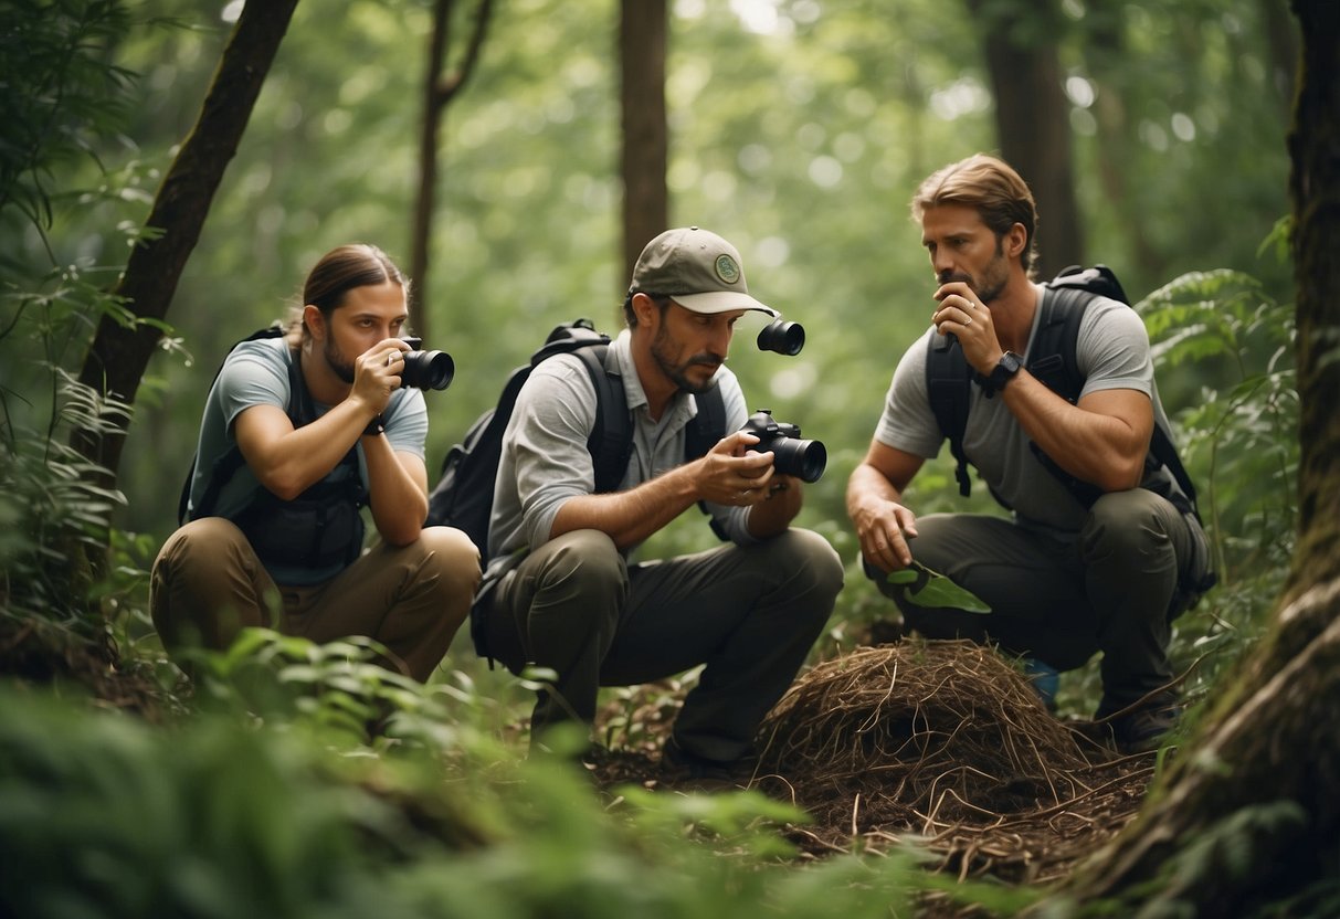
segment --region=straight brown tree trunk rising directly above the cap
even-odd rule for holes
[[[623,277],[643,246],[670,226],[666,163],[666,0],[623,0],[619,60],[623,66]]]

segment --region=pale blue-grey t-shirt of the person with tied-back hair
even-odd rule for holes
[[[247,409],[271,405],[281,411],[288,410],[291,397],[288,386],[289,348],[284,338],[243,342],[224,360],[218,378],[205,399],[204,419],[200,425],[200,442],[196,453],[196,476],[190,486],[189,509],[198,506],[209,488],[214,464],[237,446],[233,422]],[[330,411],[330,406],[312,402],[316,417]],[[427,439],[427,409],[422,390],[402,388],[391,394],[391,401],[382,413],[386,423],[386,437],[391,449],[425,455],[423,443]],[[358,469],[367,488],[367,464],[363,447],[356,446]],[[343,476],[338,469],[335,477]],[[216,517],[236,517],[251,502],[261,488],[247,464],[243,464],[226,485],[220,490],[212,510]],[[338,569],[335,569],[338,572]],[[310,584],[330,577],[334,572],[276,571],[271,576],[279,584]]]

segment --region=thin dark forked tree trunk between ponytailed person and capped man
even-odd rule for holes
[[[437,154],[442,119],[452,99],[465,87],[484,50],[484,38],[493,17],[493,0],[480,0],[474,28],[454,71],[446,71],[452,48],[452,19],[456,0],[434,0],[433,33],[429,36],[427,74],[423,79],[423,122],[419,131],[419,190],[414,200],[414,229],[410,237],[410,327],[429,336],[427,277],[433,265],[433,216],[437,206]]]

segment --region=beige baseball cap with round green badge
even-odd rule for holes
[[[698,226],[670,229],[647,242],[632,268],[628,293],[661,293],[702,313],[757,309],[780,313],[752,296],[736,246]]]

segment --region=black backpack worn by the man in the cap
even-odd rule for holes
[[[503,431],[507,430],[521,386],[541,362],[556,354],[582,358],[596,394],[595,429],[587,449],[595,465],[595,490],[618,490],[632,453],[632,419],[623,380],[606,367],[610,336],[595,331],[590,319],[556,326],[528,364],[511,372],[497,405],[480,415],[465,438],[442,461],[437,485],[429,494],[425,526],[456,526],[480,548],[488,561],[489,518],[493,514],[493,485],[503,458]],[[697,460],[725,437],[726,410],[717,387],[694,397],[698,414],[686,429],[685,460]]]

